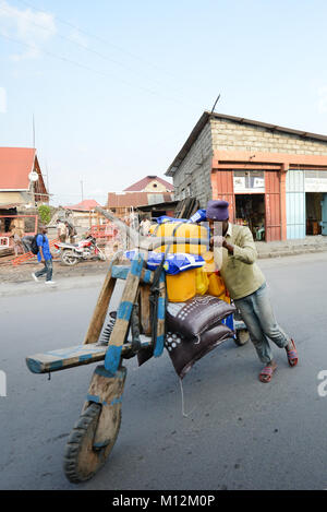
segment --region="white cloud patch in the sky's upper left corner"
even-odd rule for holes
[[[28,45],[22,52],[11,56],[13,60],[23,60],[39,58],[43,45],[53,37],[57,27],[50,13],[20,10],[0,0],[0,32]]]

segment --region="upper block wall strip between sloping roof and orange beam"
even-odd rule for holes
[[[211,119],[213,150],[261,151],[302,155],[327,155],[327,142],[315,141],[267,128]]]

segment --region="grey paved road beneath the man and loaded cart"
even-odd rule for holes
[[[226,342],[185,377],[187,418],[168,355],[129,369],[123,421],[110,460],[81,489],[326,489],[327,396],[317,376],[327,370],[327,254],[259,262],[279,322],[298,343],[289,368],[275,349],[270,384],[251,344]],[[78,344],[99,283],[0,298],[0,488],[75,489],[62,473],[62,454],[77,419],[94,366],[33,376],[24,358]],[[78,306],[76,306],[78,305]],[[327,390],[327,385],[325,388]]]

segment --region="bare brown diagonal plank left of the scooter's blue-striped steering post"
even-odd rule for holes
[[[99,340],[104,322],[107,315],[108,306],[114,289],[116,278],[112,277],[112,266],[120,260],[121,253],[118,253],[109,265],[109,271],[105,278],[101,291],[99,294],[84,344],[96,343]]]

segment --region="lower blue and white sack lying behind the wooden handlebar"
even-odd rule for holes
[[[124,255],[129,260],[133,260],[136,254],[136,251],[125,251]],[[164,252],[153,252],[148,253],[147,267],[150,271],[155,271],[157,266],[162,261],[165,257]],[[178,252],[174,254],[167,254],[166,261],[164,263],[164,270],[169,275],[177,275],[180,272],[187,271],[190,269],[199,269],[205,264],[205,260],[197,254],[186,254],[183,252]]]

